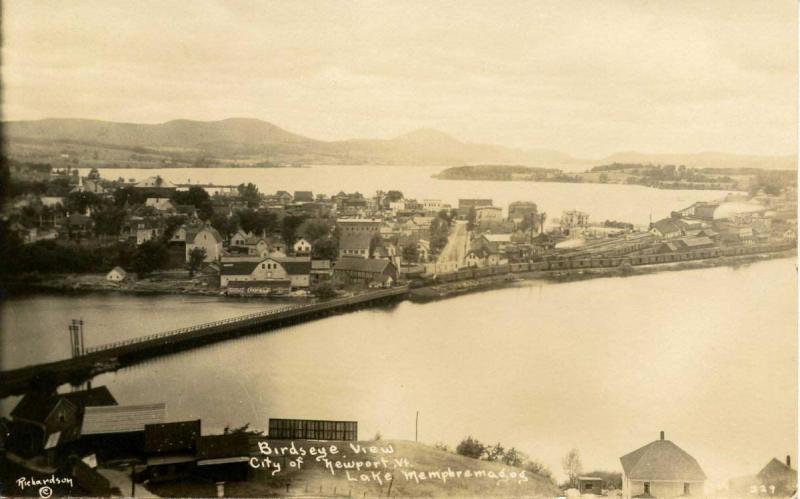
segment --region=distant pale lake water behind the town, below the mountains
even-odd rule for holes
[[[161,175],[174,183],[239,185],[253,182],[263,193],[309,190],[314,194],[339,191],[373,195],[377,190],[399,190],[409,198],[441,199],[453,206],[459,198],[491,198],[504,209],[512,201],[533,201],[552,220],[564,210],[577,209],[592,221],[620,220],[637,225],[668,216],[695,201],[724,196],[727,191],[673,191],[637,185],[561,184],[553,182],[489,182],[437,180],[431,175],[444,167],[423,166],[313,166],[310,168],[172,168],[100,169],[108,179],[143,180]],[[83,174],[88,170],[82,170]]]

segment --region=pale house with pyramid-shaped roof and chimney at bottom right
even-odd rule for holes
[[[661,438],[619,458],[622,497],[703,496],[706,475],[695,458]]]

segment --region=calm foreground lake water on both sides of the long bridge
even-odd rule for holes
[[[419,411],[422,441],[501,441],[559,475],[572,447],[586,471],[618,470],[619,456],[664,430],[711,483],[724,483],[794,454],[795,265],[534,281],[403,302],[152,360],[95,385],[123,404],[165,401],[170,420],[202,418],[205,433],[319,418],[357,420],[361,438],[413,439]],[[18,297],[2,304],[0,349],[8,366],[64,357],[76,317],[95,344],[264,306]]]

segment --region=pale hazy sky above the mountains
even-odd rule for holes
[[[762,1],[3,3],[4,119],[234,116],[559,149],[792,154],[797,7]]]

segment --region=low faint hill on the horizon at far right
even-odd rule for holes
[[[648,154],[636,151],[619,152],[595,162],[640,163],[661,165],[685,165],[695,168],[761,168],[767,170],[794,170],[797,156],[752,156],[722,152],[700,152],[695,154]]]

